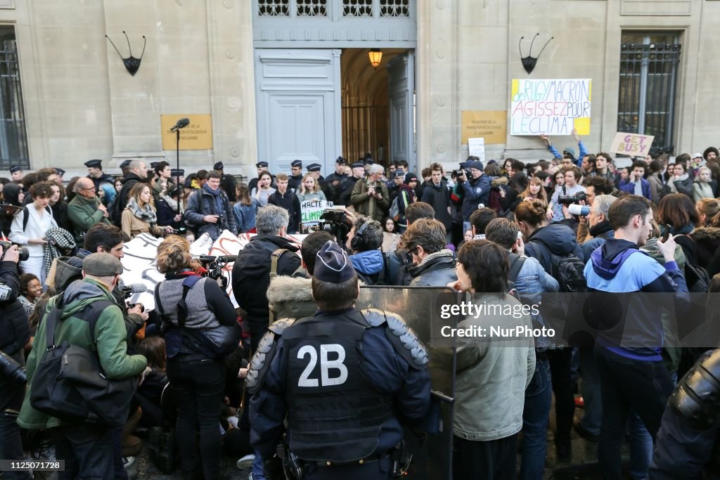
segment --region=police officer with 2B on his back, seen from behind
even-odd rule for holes
[[[312,278],[315,316],[274,322],[251,362],[253,447],[271,458],[287,417],[284,454],[295,478],[399,476],[400,422],[428,412],[425,346],[397,314],[356,312],[359,291],[348,255],[328,240]]]

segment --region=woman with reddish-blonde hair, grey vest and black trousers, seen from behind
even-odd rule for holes
[[[155,302],[166,331],[167,376],[178,405],[175,438],[181,470],[188,478],[202,471],[204,478],[217,479],[224,357],[237,348],[240,326],[225,291],[216,281],[200,276],[200,265],[190,256],[187,240],[168,236],[158,247],[157,263],[158,271],[165,273]]]

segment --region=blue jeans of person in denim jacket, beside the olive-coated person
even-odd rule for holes
[[[550,363],[547,358],[538,358],[533,378],[525,390],[523,455],[519,479],[541,480],[543,478],[551,404]]]

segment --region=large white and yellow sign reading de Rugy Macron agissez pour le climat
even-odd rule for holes
[[[510,135],[590,135],[590,78],[513,80]]]

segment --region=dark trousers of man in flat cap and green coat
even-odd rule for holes
[[[55,457],[65,461],[60,480],[106,480],[114,473],[112,428],[69,425],[52,429]]]

